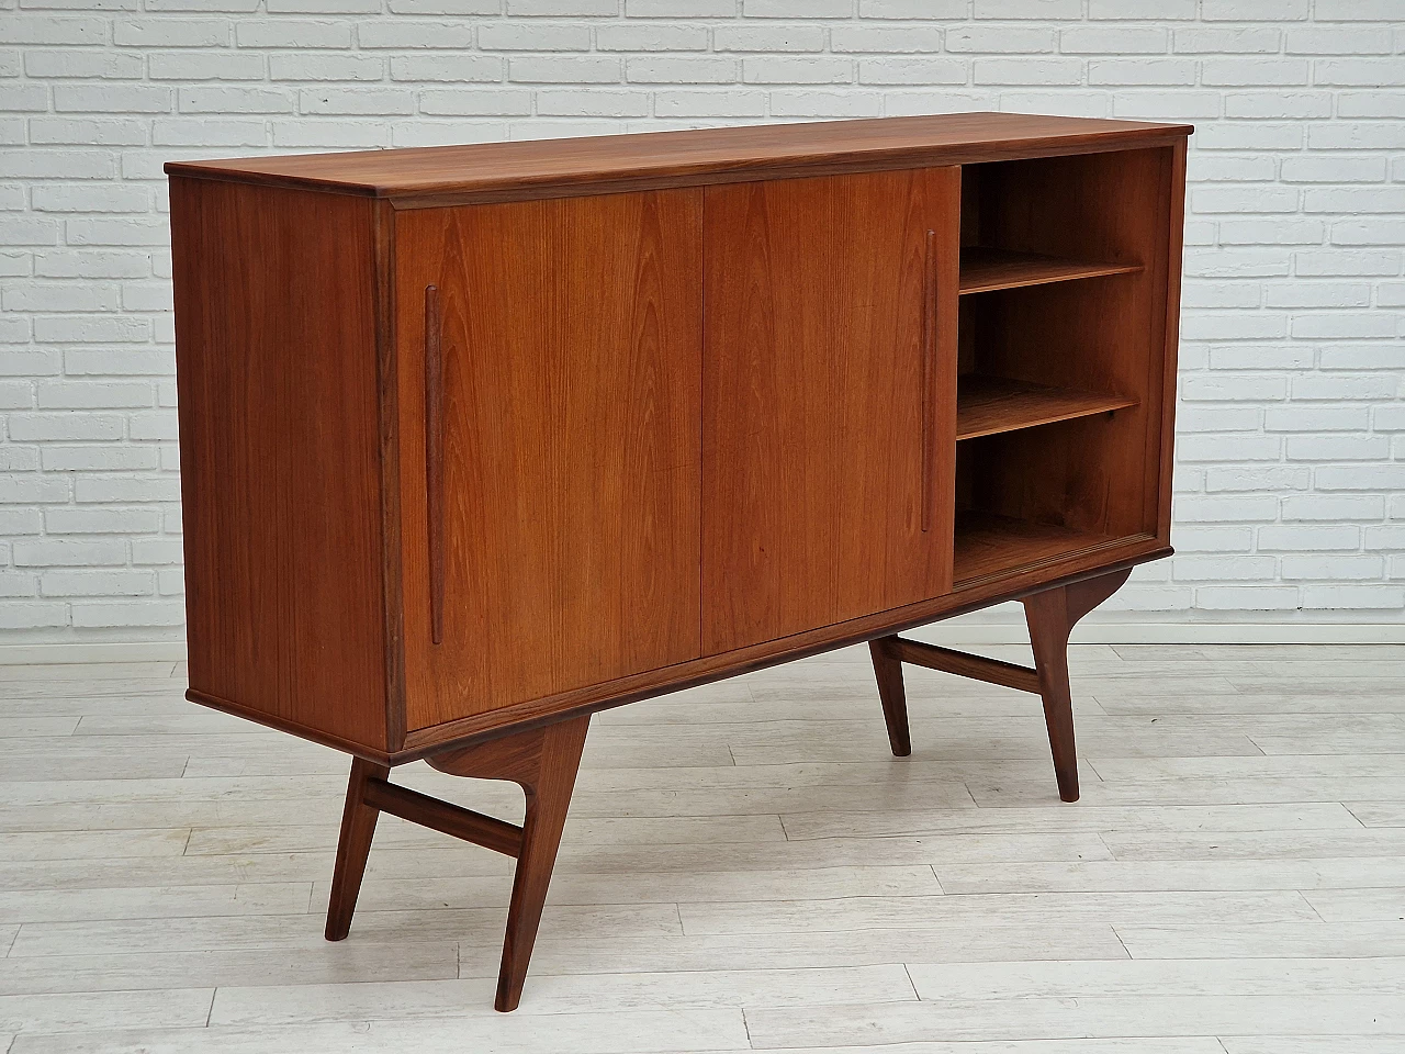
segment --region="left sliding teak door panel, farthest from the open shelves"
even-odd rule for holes
[[[403,312],[409,728],[697,656],[700,235],[698,191],[399,216],[406,302],[438,287],[445,433],[436,648]]]

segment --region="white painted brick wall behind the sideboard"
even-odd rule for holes
[[[1149,618],[1405,621],[1405,0],[0,0],[0,632],[178,637],[162,162],[1023,110],[1184,119]]]

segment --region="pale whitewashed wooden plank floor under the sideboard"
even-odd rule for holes
[[[0,668],[0,1051],[1405,1051],[1405,648],[1072,665],[1076,805],[1033,696],[909,669],[892,759],[863,649],[597,715],[513,1015],[510,861],[382,818],[327,944],[341,755]]]

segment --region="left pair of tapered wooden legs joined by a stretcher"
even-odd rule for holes
[[[375,819],[381,812],[513,856],[517,859],[517,874],[493,1005],[499,1010],[517,1009],[589,725],[589,715],[572,718],[427,759],[440,772],[454,776],[520,784],[527,794],[527,815],[521,826],[396,787],[388,781],[389,770],[384,766],[353,760],[337,864],[332,876],[327,940],[341,940],[351,929]]]

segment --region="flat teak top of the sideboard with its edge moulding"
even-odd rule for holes
[[[941,114],[167,162],[166,171],[378,198],[493,200],[1131,149],[1165,145],[1191,131],[1086,117]]]

